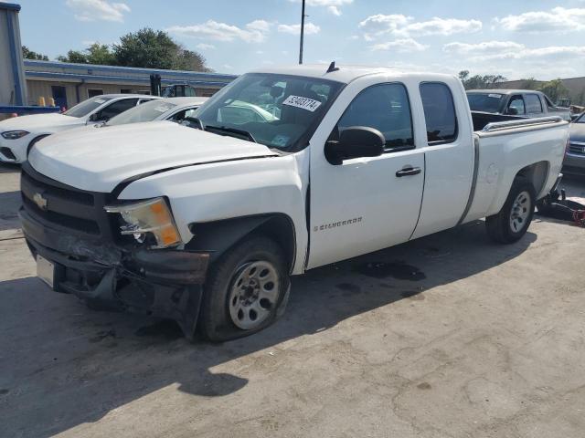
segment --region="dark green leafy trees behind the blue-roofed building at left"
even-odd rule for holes
[[[67,56],[57,59],[103,66],[211,71],[205,64],[205,57],[187,50],[166,32],[149,27],[122,36],[120,42],[112,47],[93,43],[82,51],[69,50]]]

